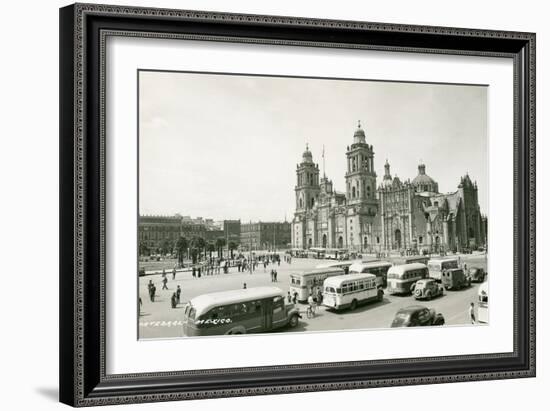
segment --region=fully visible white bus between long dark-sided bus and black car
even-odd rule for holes
[[[374,274],[348,274],[330,277],[323,283],[323,305],[340,310],[355,310],[361,303],[382,301],[384,291]]]

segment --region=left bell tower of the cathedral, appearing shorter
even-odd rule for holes
[[[317,203],[321,187],[319,185],[319,166],[313,162],[313,156],[306,144],[302,162],[296,166],[296,212],[305,212]]]

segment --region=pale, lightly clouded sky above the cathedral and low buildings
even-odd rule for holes
[[[422,161],[440,192],[468,173],[487,212],[486,86],[141,71],[140,214],[290,221],[306,144],[345,191],[358,120],[377,184]]]

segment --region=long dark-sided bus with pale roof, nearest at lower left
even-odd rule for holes
[[[277,287],[255,287],[203,294],[184,308],[186,336],[261,333],[296,327],[300,313],[294,304],[285,304]]]

